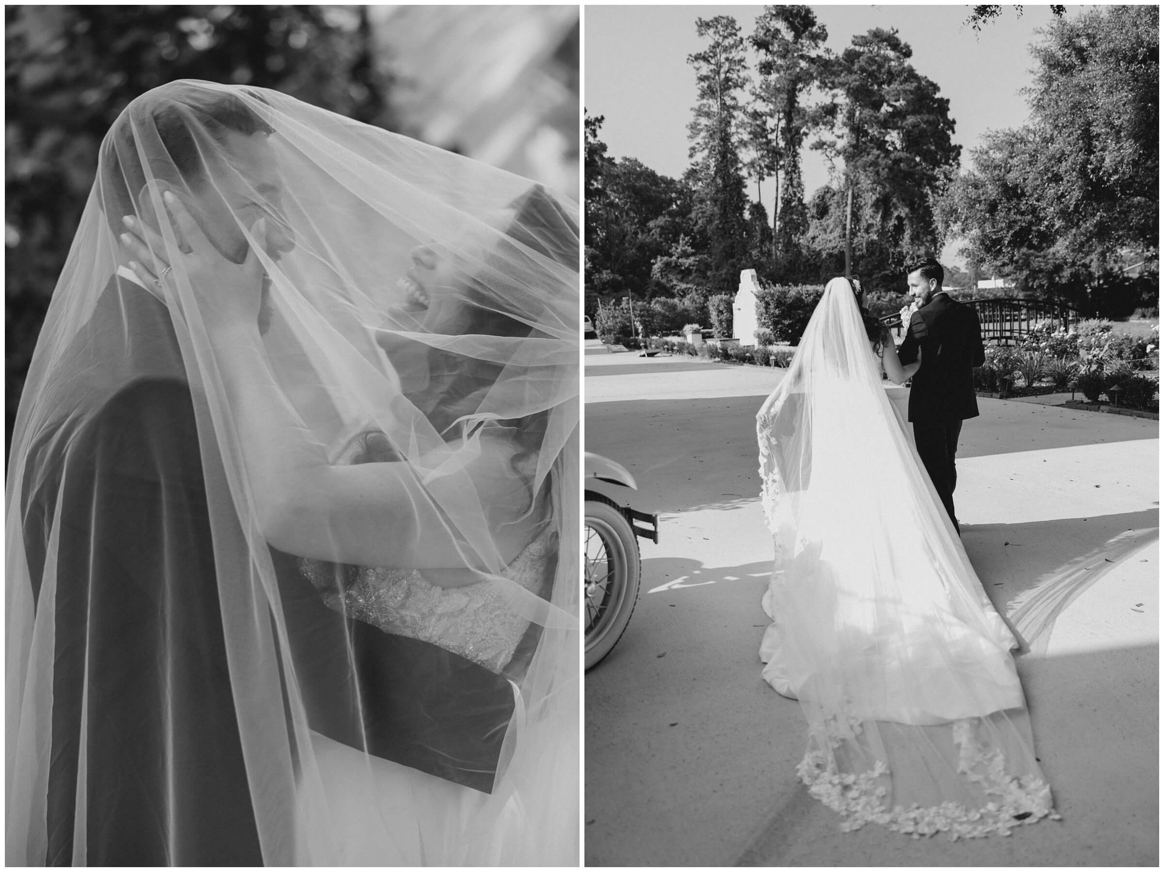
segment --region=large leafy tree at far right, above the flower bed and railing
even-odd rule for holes
[[[1032,47],[1030,121],[988,134],[943,199],[966,253],[1022,291],[1117,314],[1121,258],[1157,256],[1158,27],[1154,6],[1053,22]]]

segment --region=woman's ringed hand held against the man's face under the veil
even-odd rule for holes
[[[121,234],[121,242],[137,260],[129,265],[146,284],[159,290],[163,284],[175,299],[175,270],[184,272],[199,302],[206,300],[204,310],[208,326],[256,325],[262,303],[263,264],[255,246],[247,249],[241,264],[223,257],[203,233],[182,200],[170,191],[162,194],[178,243],[177,257],[172,264],[162,256],[165,242],[161,233],[146,227],[141,221],[126,215],[122,222],[128,233]],[[267,239],[267,219],[260,218],[250,228],[256,240]],[[146,264],[152,264],[151,271]]]

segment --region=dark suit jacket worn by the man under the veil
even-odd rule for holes
[[[169,312],[111,279],[69,354],[74,377],[54,385],[61,418],[29,451],[21,501],[37,608],[59,502],[45,862],[71,860],[84,747],[90,865],[261,864],[196,412]],[[310,726],[491,791],[513,711],[509,681],[346,619],[293,558],[272,556]],[[175,615],[183,619],[171,625]],[[286,802],[290,821],[290,791]]]

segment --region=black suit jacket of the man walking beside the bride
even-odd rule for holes
[[[978,417],[974,367],[986,362],[978,313],[947,293],[936,293],[909,320],[897,356],[922,367],[909,391],[909,420],[953,423]]]

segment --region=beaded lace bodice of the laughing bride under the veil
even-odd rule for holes
[[[556,555],[558,532],[547,524],[502,576],[539,594],[554,572]],[[355,582],[342,588],[333,563],[303,559],[299,568],[328,608],[386,633],[439,645],[492,673],[499,674],[513,658],[530,626],[506,604],[498,582],[442,588],[416,569],[363,566],[356,568]]]

